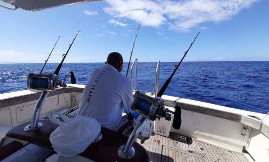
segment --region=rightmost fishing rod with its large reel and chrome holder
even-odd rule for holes
[[[161,87],[161,90],[158,92],[157,97],[153,98],[151,96],[146,95],[143,92],[140,91],[135,91],[134,93],[134,98],[132,101],[131,108],[132,110],[139,114],[141,116],[141,119],[139,122],[136,124],[134,127],[133,132],[130,134],[129,139],[126,143],[126,145],[122,145],[119,150],[118,150],[118,155],[126,159],[128,157],[132,158],[134,154],[129,154],[132,153],[132,146],[134,144],[135,139],[137,138],[139,132],[141,131],[142,127],[145,125],[146,120],[149,119],[151,121],[154,121],[156,119],[164,118],[167,121],[170,121],[172,119],[171,114],[174,114],[173,118],[173,128],[174,129],[180,129],[181,126],[181,109],[179,106],[175,106],[175,111],[171,111],[168,108],[165,108],[165,103],[164,100],[161,98],[163,95],[164,91],[166,90],[167,86],[169,85],[173,75],[175,74],[176,70],[178,69],[179,65],[183,61],[184,57],[190,50],[192,44],[198,37],[200,32],[197,33],[197,36],[194,38],[193,42],[190,44],[189,48],[187,51],[185,51],[184,56],[178,63],[178,65],[175,66],[173,73],[171,76],[166,80],[164,85]],[[171,113],[171,114],[169,114]],[[141,143],[144,142],[144,140],[147,140],[146,138],[141,139]]]

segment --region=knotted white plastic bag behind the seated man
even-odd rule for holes
[[[55,152],[63,157],[73,157],[84,152],[101,131],[101,125],[95,119],[77,116],[69,119],[58,112],[47,113],[49,120],[59,125],[49,137]],[[59,120],[61,117],[63,120]]]

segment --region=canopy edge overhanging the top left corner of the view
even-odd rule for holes
[[[7,6],[3,6],[7,9],[25,9],[29,11],[37,11],[52,7],[64,6],[64,5],[71,5],[89,1],[99,1],[99,0],[0,0],[6,3],[13,5],[13,8],[9,8]],[[0,6],[2,6],[0,4]]]

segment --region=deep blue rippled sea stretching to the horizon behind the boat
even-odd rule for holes
[[[89,73],[103,64],[64,63],[59,76],[63,79],[65,74],[73,71],[77,84],[86,84]],[[160,63],[159,89],[176,64]],[[156,62],[138,62],[137,90],[154,91],[156,65]],[[0,64],[0,94],[27,89],[27,74],[39,73],[42,66],[41,63]],[[53,73],[57,66],[58,63],[48,63],[43,73]],[[123,75],[126,75],[126,70],[127,64],[124,65]],[[164,94],[267,113],[269,62],[182,62]]]

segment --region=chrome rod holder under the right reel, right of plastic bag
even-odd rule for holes
[[[136,124],[133,132],[131,133],[130,137],[128,138],[126,145],[122,145],[119,148],[119,150],[118,150],[119,157],[121,157],[122,159],[131,159],[134,157],[134,154],[135,154],[135,150],[133,147],[134,141],[135,141],[135,139],[137,139],[137,136],[138,136],[139,132],[141,131],[141,129],[143,128],[143,126],[145,125],[146,120],[147,120],[146,118],[142,117],[139,120],[139,122]]]

